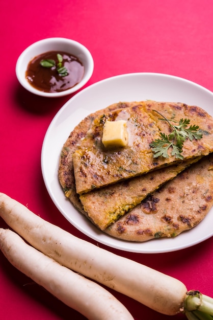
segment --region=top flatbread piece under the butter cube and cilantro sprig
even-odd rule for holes
[[[179,122],[189,118],[191,125],[198,125],[203,132],[201,140],[187,139],[183,143],[181,155],[184,159],[207,155],[213,151],[213,119],[201,108],[183,103],[154,101],[136,102],[129,108],[116,109],[94,119],[87,135],[73,153],[75,187],[78,194],[83,194],[178,163],[175,156],[154,158],[150,143],[160,138],[160,133],[169,134],[171,127],[154,110],[160,111],[167,119]],[[107,149],[102,144],[102,131],[105,121],[126,120],[128,146]]]

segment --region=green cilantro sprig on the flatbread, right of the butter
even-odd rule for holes
[[[172,132],[167,135],[165,133],[160,132],[161,139],[155,139],[152,143],[150,143],[150,147],[154,152],[153,157],[157,158],[158,156],[163,156],[168,158],[168,149],[172,148],[171,155],[175,155],[176,158],[183,159],[181,155],[183,142],[188,138],[191,141],[193,139],[200,140],[203,136],[202,131],[199,130],[199,126],[191,125],[187,127],[190,123],[189,119],[180,119],[179,123],[175,120],[168,120],[161,113],[156,110],[159,115],[163,117],[163,121],[167,121],[170,125]],[[171,124],[171,122],[178,123],[178,125]]]

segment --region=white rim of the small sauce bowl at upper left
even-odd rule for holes
[[[58,93],[42,92],[42,91],[34,88],[25,79],[25,76],[23,77],[23,73],[25,73],[25,70],[23,71],[23,68],[21,68],[21,65],[23,63],[24,57],[29,52],[31,52],[34,48],[37,48],[42,44],[48,44],[48,43],[54,43],[54,42],[71,44],[74,47],[76,47],[86,57],[86,60],[88,61],[88,63],[87,63],[88,68],[85,71],[83,79],[79,83],[77,83],[75,86],[73,86],[72,88],[64,90],[62,92],[58,92]],[[45,52],[45,50],[43,52]],[[93,70],[94,70],[94,60],[93,60],[93,57],[92,57],[90,51],[85,47],[85,45],[76,41],[76,40],[64,38],[64,37],[49,37],[49,38],[44,38],[44,39],[38,40],[36,42],[33,42],[32,44],[30,44],[28,47],[26,47],[22,51],[22,53],[19,55],[19,57],[16,61],[16,66],[15,66],[16,77],[17,77],[19,83],[22,85],[22,87],[24,87],[26,90],[28,90],[29,92],[31,92],[37,96],[49,97],[49,98],[58,98],[58,97],[67,96],[67,95],[70,95],[70,94],[76,92],[78,89],[81,89],[91,78],[91,76],[93,74]]]

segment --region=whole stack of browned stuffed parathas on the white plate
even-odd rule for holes
[[[183,143],[183,160],[153,157],[171,127],[159,117],[190,119],[202,139]],[[106,149],[105,121],[126,120],[127,147]],[[103,232],[128,241],[174,237],[198,224],[213,204],[213,119],[183,103],[122,102],[92,113],[65,142],[59,180],[66,197]]]

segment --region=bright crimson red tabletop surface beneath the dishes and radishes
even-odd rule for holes
[[[26,92],[15,75],[19,54],[42,38],[68,37],[83,43],[93,55],[94,73],[86,86],[119,74],[157,72],[189,79],[212,91],[213,6],[208,0],[11,0],[1,4],[0,15],[0,191],[27,204],[44,219],[93,242],[60,214],[41,174],[45,132],[71,96],[48,100]],[[0,223],[6,226],[3,220]],[[212,295],[213,238],[166,254],[108,249],[165,272],[188,289]],[[1,319],[85,319],[33,284],[2,253],[0,259]],[[158,314],[122,294],[113,294],[136,320],[184,318]]]

